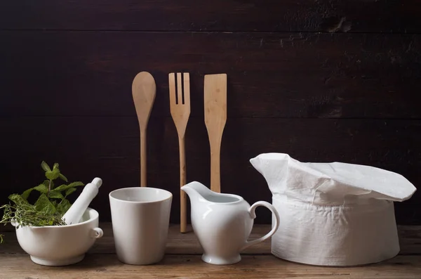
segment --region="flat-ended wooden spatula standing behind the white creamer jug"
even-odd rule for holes
[[[227,74],[206,74],[205,124],[210,144],[210,190],[220,193],[220,150],[227,122]]]

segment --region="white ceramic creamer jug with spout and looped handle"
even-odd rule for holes
[[[243,249],[267,240],[278,229],[279,215],[269,202],[255,202],[250,207],[239,195],[215,193],[197,181],[181,190],[189,195],[192,227],[204,251],[202,260],[208,264],[236,264]],[[258,206],[272,212],[272,230],[262,238],[247,241]]]

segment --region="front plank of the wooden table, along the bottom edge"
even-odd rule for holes
[[[239,264],[213,266],[199,255],[166,255],[159,264],[131,266],[115,255],[87,255],[79,264],[39,266],[23,254],[0,256],[0,278],[420,278],[420,256],[398,256],[380,264],[334,268],[308,266],[274,256],[243,256]]]

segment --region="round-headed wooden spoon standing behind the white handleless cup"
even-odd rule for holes
[[[145,187],[146,130],[156,95],[156,84],[152,74],[149,74],[149,72],[138,73],[133,79],[132,94],[140,128],[140,186]]]

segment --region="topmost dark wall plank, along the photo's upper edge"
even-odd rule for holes
[[[0,28],[241,32],[420,32],[416,0],[1,1]]]

